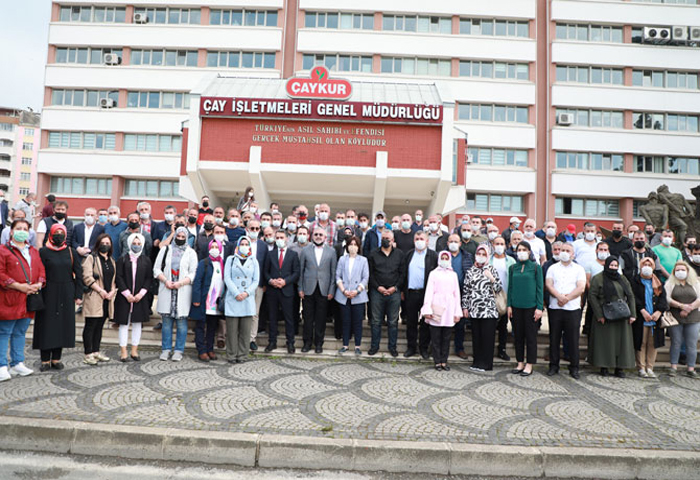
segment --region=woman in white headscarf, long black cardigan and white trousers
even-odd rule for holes
[[[114,304],[114,321],[119,325],[119,359],[126,362],[126,342],[131,325],[131,359],[141,360],[138,346],[141,340],[141,324],[148,321],[147,293],[153,282],[151,259],[142,255],[145,239],[140,233],[132,233],[127,239],[128,252],[117,260],[117,299]]]

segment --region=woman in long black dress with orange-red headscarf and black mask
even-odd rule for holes
[[[75,347],[75,307],[82,304],[83,267],[78,252],[66,244],[68,233],[63,224],[55,223],[39,257],[46,270],[46,287],[42,289],[44,309],[36,313],[32,348],[41,351],[41,368],[63,370],[64,348]],[[72,301],[71,301],[72,300]]]

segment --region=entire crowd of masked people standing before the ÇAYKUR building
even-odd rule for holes
[[[700,244],[690,235],[681,251],[671,230],[652,225],[613,223],[602,238],[591,222],[577,232],[573,224],[559,230],[546,221],[538,229],[533,219],[512,217],[499,231],[493,219],[463,215],[450,230],[440,214],[332,216],[325,203],[313,216],[304,205],[283,215],[276,203],[262,211],[252,187],[236,208],[212,208],[203,197],[184,212],[167,206],[162,222],[147,202],[126,221],[111,206],[87,208],[74,224],[68,208],[47,198],[39,215],[0,211],[11,217],[0,218],[8,224],[0,246],[0,381],[33,373],[24,363],[32,319],[40,371],[63,369],[63,349],[75,347],[76,307],[85,319],[84,363],[92,366],[110,361],[101,348],[110,323],[119,332],[118,360],[140,361],[142,325],[155,308],[162,361],[183,359],[188,320],[202,362],[223,348],[229,362],[245,362],[262,332],[265,351],[274,351],[281,320],[289,354],[299,334],[302,352],[322,353],[330,322],[342,340],[338,354],[352,348],[361,355],[367,318],[370,356],[384,326],[390,355],[399,355],[401,321],[403,355],[432,356],[435,369],[450,370],[451,350],[468,360],[471,330],[470,368],[483,372],[493,369],[494,355],[510,360],[510,323],[512,374],[527,377],[546,312],[547,375],[557,375],[563,360],[580,378],[583,322],[587,362],[601,375],[624,377],[636,368],[655,377],[656,352],[668,335],[669,375],[686,364],[687,375],[697,377]]]

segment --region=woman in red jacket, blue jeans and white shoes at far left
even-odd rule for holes
[[[27,294],[44,286],[46,273],[39,252],[28,240],[29,223],[18,219],[12,222],[10,241],[0,246],[0,382],[34,373],[24,366],[25,335],[34,318],[34,312],[27,311]]]

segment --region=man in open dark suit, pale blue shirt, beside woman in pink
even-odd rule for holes
[[[423,307],[425,286],[428,275],[437,267],[438,254],[428,248],[427,235],[419,230],[413,237],[415,249],[406,256],[407,276],[402,293],[406,299],[406,353],[404,357],[416,354],[416,346],[421,355],[427,356],[430,345],[430,327],[422,322],[420,331],[418,317]]]

